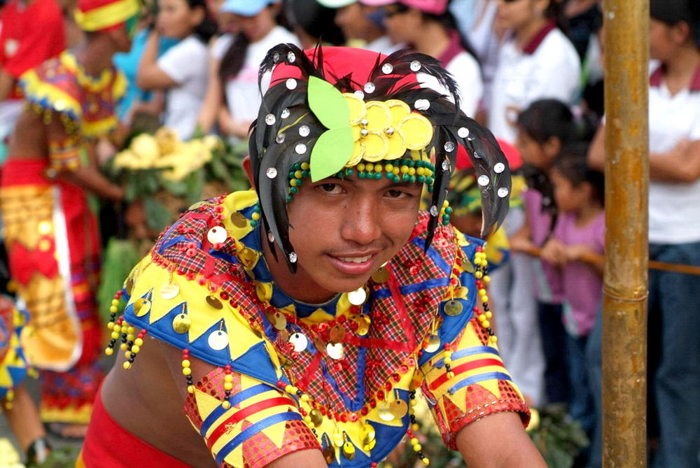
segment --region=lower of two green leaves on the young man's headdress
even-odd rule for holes
[[[311,182],[318,182],[343,169],[352,155],[354,144],[352,127],[347,122],[345,127],[323,132],[311,150]]]

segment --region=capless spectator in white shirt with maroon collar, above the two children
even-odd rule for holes
[[[536,99],[573,104],[580,92],[581,64],[562,32],[556,0],[498,0],[495,27],[510,30],[500,48],[488,124],[513,143],[517,114]]]

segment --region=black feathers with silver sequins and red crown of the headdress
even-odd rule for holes
[[[251,125],[249,149],[261,219],[271,234],[268,241],[277,243],[291,271],[296,270],[296,255],[288,236],[287,174],[300,164],[313,163],[314,146],[330,129],[328,121],[315,115],[309,105],[309,87],[318,80],[330,83],[337,92],[353,93],[367,103],[402,101],[409,106],[411,115],[418,113],[432,125],[432,137],[421,148],[422,154],[434,150],[435,168],[426,248],[440,221],[440,207],[460,147],[466,150],[475,168],[481,190],[482,235],[505,218],[511,187],[507,160],[491,132],[459,110],[454,79],[433,57],[405,50],[386,56],[320,45],[304,52],[295,45],[280,44],[267,52],[260,65],[258,83],[273,69],[258,120]],[[433,76],[449,95],[421,87],[421,73]],[[274,252],[274,246],[271,247]]]

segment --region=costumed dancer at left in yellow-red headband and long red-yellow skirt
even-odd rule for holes
[[[125,80],[112,55],[129,50],[127,29],[138,12],[137,0],[78,2],[85,42],[20,78],[27,106],[2,171],[10,275],[31,318],[22,344],[41,372],[41,416],[66,424],[65,436],[80,435],[79,425],[84,433],[102,380],[94,301],[99,239],[85,191],[123,199],[123,190],[94,169],[94,141],[116,126]]]

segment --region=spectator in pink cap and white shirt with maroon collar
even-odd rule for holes
[[[384,26],[393,43],[409,44],[416,52],[435,57],[454,76],[461,90],[461,110],[474,117],[484,92],[479,62],[459,34],[448,0],[360,0],[384,5]],[[433,80],[426,85],[440,90]]]

